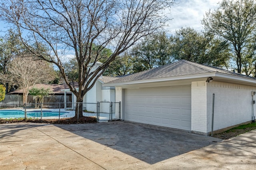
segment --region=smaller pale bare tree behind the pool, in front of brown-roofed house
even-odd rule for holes
[[[37,83],[47,83],[54,79],[54,69],[43,60],[17,57],[10,63],[8,80],[23,90],[23,102],[27,102],[29,87]]]

